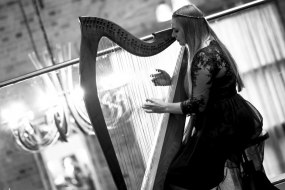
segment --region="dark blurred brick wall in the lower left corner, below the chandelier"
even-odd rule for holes
[[[15,144],[8,131],[0,133],[0,189],[44,190],[33,154]]]

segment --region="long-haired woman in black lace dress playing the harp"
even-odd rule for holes
[[[191,115],[192,130],[168,169],[165,189],[209,190],[223,180],[226,160],[238,156],[260,134],[262,117],[237,93],[243,82],[236,63],[197,7],[175,11],[172,29],[172,36],[188,50],[184,80],[188,99],[175,103],[147,99],[143,109]],[[170,85],[171,77],[158,71],[153,83]]]

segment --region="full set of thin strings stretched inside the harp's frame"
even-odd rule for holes
[[[129,189],[139,189],[162,117],[146,114],[141,106],[146,98],[166,99],[169,90],[155,87],[150,74],[155,69],[173,73],[180,48],[171,45],[156,56],[142,58],[115,50],[116,44],[107,38],[100,40],[99,47],[110,44],[113,52],[97,58],[98,96],[125,182]]]

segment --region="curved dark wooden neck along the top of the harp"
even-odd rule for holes
[[[103,36],[108,37],[129,53],[137,56],[146,57],[158,54],[175,41],[175,38],[171,36],[171,29],[153,33],[152,41],[146,42],[119,25],[102,18],[79,17],[79,21],[82,37],[96,41]]]

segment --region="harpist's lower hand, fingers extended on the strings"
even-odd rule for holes
[[[159,99],[146,99],[142,108],[146,113],[166,113],[167,103]]]

